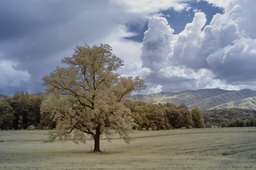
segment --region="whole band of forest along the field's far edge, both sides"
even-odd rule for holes
[[[54,113],[40,112],[44,97],[33,96],[27,92],[17,92],[13,97],[0,100],[0,129],[53,129],[56,127]],[[184,104],[176,106],[172,103],[149,104],[144,102],[126,102],[131,110],[132,118],[137,124],[133,129],[165,130],[178,128],[205,128],[256,126],[256,110],[250,109],[218,109],[191,111]]]

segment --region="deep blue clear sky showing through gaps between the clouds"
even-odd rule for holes
[[[174,29],[174,34],[179,34],[182,32],[187,23],[191,23],[196,12],[203,12],[206,15],[206,25],[209,25],[213,16],[217,13],[223,14],[224,9],[216,7],[209,4],[206,1],[191,1],[188,3],[191,7],[190,10],[174,11],[173,9],[168,9],[160,11],[162,17],[165,17],[171,28]],[[139,20],[130,23],[126,23],[125,27],[129,32],[134,32],[137,35],[131,37],[124,37],[125,39],[133,40],[136,42],[143,42],[144,32],[148,29],[148,21]],[[204,27],[203,27],[204,28]],[[202,29],[203,29],[202,28]]]

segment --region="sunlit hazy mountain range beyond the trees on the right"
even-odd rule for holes
[[[256,109],[256,91],[242,89],[238,91],[223,89],[186,90],[178,93],[159,92],[149,95],[133,95],[127,101],[143,101],[146,103],[185,104],[189,110],[198,107],[200,110],[220,108]]]

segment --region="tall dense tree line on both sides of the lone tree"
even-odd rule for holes
[[[41,109],[45,98],[16,92],[13,97],[0,100],[0,129],[53,129],[56,123],[50,110]],[[177,128],[205,128],[203,116],[198,108],[192,111],[184,104],[149,104],[126,102],[138,130],[165,130]]]

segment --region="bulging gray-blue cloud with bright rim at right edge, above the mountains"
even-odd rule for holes
[[[256,40],[241,38],[233,45],[221,48],[207,57],[216,79],[228,83],[248,83],[256,80]]]

